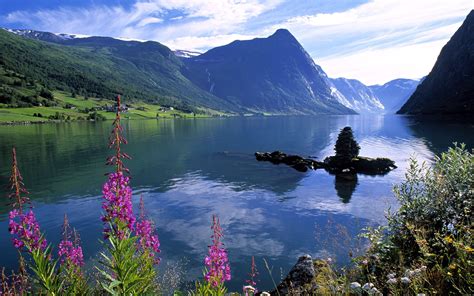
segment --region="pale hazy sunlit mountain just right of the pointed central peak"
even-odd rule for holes
[[[384,105],[372,90],[355,79],[330,79],[338,93],[340,102],[358,113],[384,113]]]

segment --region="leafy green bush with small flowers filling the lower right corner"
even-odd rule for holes
[[[411,161],[395,186],[400,209],[367,229],[370,246],[354,266],[319,269],[316,294],[472,295],[474,155],[450,148],[432,167]],[[332,291],[331,293],[326,293]]]

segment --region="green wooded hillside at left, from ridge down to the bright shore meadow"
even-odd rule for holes
[[[74,42],[59,45],[0,30],[0,103],[53,106],[50,93],[62,91],[71,98],[104,100],[122,94],[130,102],[195,113],[199,108],[235,109],[185,78],[181,60],[157,42]]]

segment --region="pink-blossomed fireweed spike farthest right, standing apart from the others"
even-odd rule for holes
[[[224,281],[230,281],[230,265],[227,251],[221,242],[222,228],[216,215],[212,216],[211,229],[213,231],[212,245],[209,246],[209,255],[204,259],[204,264],[207,266],[204,279],[213,287],[217,287]]]

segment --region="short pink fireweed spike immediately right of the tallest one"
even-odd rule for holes
[[[138,244],[143,251],[149,252],[150,257],[155,257],[160,253],[160,240],[154,231],[154,225],[151,220],[145,217],[145,204],[140,197],[140,219],[136,223],[135,232],[139,237]],[[160,263],[160,258],[155,258],[155,264]]]

